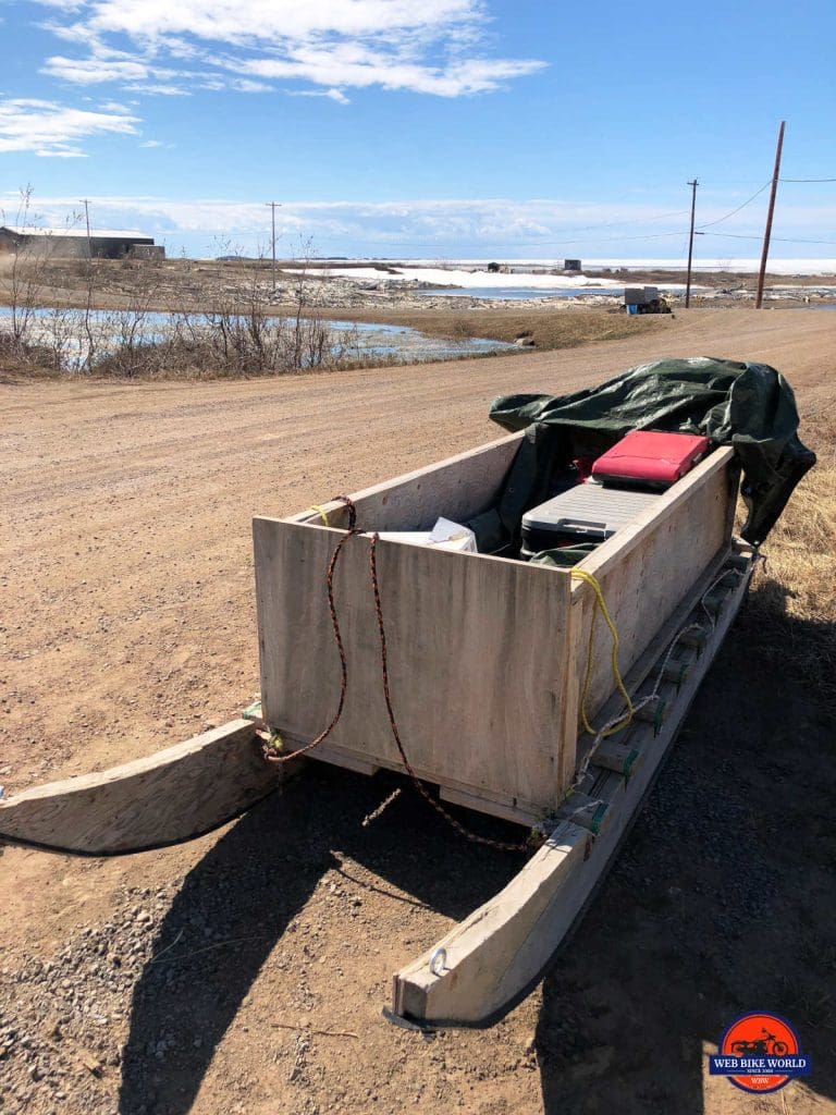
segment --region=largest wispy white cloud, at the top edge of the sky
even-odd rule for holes
[[[260,93],[290,80],[344,104],[343,90],[371,87],[438,97],[489,93],[545,65],[490,55],[485,0],[54,0],[52,7],[47,26],[79,56],[55,55],[43,72],[75,85]],[[126,40],[129,50],[116,49]]]

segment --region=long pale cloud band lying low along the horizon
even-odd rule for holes
[[[144,140],[154,143],[154,140]],[[0,195],[0,205],[3,204]],[[723,209],[725,205],[725,209]],[[74,197],[38,198],[48,224],[60,225],[76,206]],[[261,201],[226,198],[175,200],[156,196],[99,196],[91,200],[99,224],[142,226],[159,239],[208,249],[226,237],[254,252],[266,243],[269,212]],[[717,214],[728,211],[728,198],[718,201]],[[706,220],[713,214],[707,209]],[[283,250],[300,237],[312,236],[324,252],[402,256],[445,256],[479,250],[502,250],[536,256],[613,251],[675,255],[687,242],[688,211],[661,212],[642,202],[575,203],[529,198],[418,198],[392,202],[285,201],[276,212]],[[755,214],[751,227],[760,227]],[[793,206],[781,211],[781,236],[809,236],[816,227],[832,226],[836,207]],[[747,231],[738,225],[735,231]],[[645,241],[645,242],[644,242]],[[746,243],[742,241],[741,243]]]

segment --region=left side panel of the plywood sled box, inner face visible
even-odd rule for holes
[[[454,522],[473,518],[492,505],[522,439],[522,433],[512,434],[353,493],[358,525],[375,531],[427,531],[439,515]],[[322,504],[322,511],[329,526],[348,527],[342,502],[331,500]],[[309,507],[285,521],[315,525],[322,518]]]

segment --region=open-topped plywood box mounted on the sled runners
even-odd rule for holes
[[[464,522],[495,501],[522,434],[359,492],[367,531]],[[728,549],[737,495],[732,452],[717,449],[579,569],[599,581],[626,672],[694,582]],[[340,502],[253,522],[262,715],[288,748],[330,723],[340,695],[325,572],[348,527]],[[344,546],[334,576],[348,663],[342,718],[311,753],[372,774],[402,769],[383,700],[368,539]],[[445,801],[522,824],[553,813],[572,784],[594,592],[568,570],[380,541],[378,574],[395,712],[416,773]],[[599,617],[587,712],[615,682]]]

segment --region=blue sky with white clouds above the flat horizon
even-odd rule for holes
[[[0,207],[169,252],[759,252],[836,178],[833,0],[0,0]],[[723,220],[725,219],[725,220]],[[710,222],[718,222],[708,227]],[[774,258],[836,256],[836,182],[781,182]],[[751,239],[742,239],[751,237]]]

